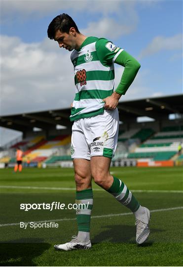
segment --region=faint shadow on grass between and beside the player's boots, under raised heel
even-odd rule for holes
[[[150,234],[153,232],[163,231],[160,229],[150,229]],[[150,235],[150,236],[151,236]],[[136,228],[131,225],[108,225],[101,227],[101,232],[92,239],[92,243],[113,242],[113,243],[136,243]],[[149,238],[148,238],[149,239]],[[154,241],[146,241],[141,246],[151,246]]]

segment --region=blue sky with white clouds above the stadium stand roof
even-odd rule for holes
[[[182,5],[176,0],[2,0],[1,115],[64,108],[72,102],[70,52],[47,38],[48,24],[64,12],[86,36],[106,37],[141,63],[122,100],[182,93]],[[116,65],[116,87],[122,71]],[[16,135],[4,131],[2,143]]]

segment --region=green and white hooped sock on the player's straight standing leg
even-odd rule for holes
[[[78,239],[80,241],[88,241],[90,239],[90,218],[93,207],[93,191],[92,189],[85,189],[76,191],[77,204],[85,204],[86,209],[78,207],[76,210],[76,219],[78,226]]]

